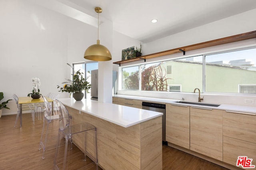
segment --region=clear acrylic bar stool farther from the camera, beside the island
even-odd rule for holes
[[[43,128],[42,128],[42,134],[41,134],[41,139],[40,139],[40,144],[39,144],[39,150],[43,149],[43,153],[42,153],[42,158],[45,158],[45,151],[46,151],[46,144],[48,141],[48,132],[49,132],[49,125],[50,123],[52,123],[52,121],[54,120],[58,120],[60,119],[60,115],[56,114],[53,115],[52,114],[52,109],[50,108],[50,103],[48,102],[48,100],[42,96],[43,100],[44,100],[44,123],[43,123]],[[54,131],[54,129],[52,129]],[[57,132],[57,128],[56,128],[56,132]],[[57,133],[56,133],[56,138],[53,139],[56,141],[57,139]],[[55,145],[54,147],[55,148]],[[50,149],[50,148],[49,148]]]

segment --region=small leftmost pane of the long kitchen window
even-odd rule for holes
[[[122,68],[122,90],[139,90],[139,66]]]

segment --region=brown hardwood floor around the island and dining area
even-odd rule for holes
[[[52,169],[55,149],[47,150],[46,158],[42,159],[42,150],[38,150],[42,120],[33,125],[30,114],[23,114],[23,126],[18,121],[14,127],[16,115],[0,118],[0,170],[50,170]],[[58,121],[53,122],[52,129],[58,129]],[[49,134],[57,135],[58,130]],[[52,143],[54,146],[54,142]],[[52,146],[48,145],[48,146]],[[81,152],[73,147],[72,152]],[[81,161],[80,161],[81,162]],[[76,163],[75,165],[78,165]],[[76,169],[70,166],[70,169]],[[99,168],[101,170],[101,168]],[[163,146],[163,170],[228,170],[191,154],[172,147]]]

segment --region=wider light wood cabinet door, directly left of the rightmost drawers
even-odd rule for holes
[[[222,110],[190,107],[190,150],[223,160]]]

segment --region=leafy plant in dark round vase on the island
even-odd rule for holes
[[[68,92],[70,95],[73,93],[73,97],[76,101],[82,100],[84,97],[82,90],[88,92],[91,88],[91,84],[87,81],[87,78],[84,78],[83,74],[84,73],[78,70],[73,75],[73,80],[66,79],[66,82],[62,82],[62,84],[64,84],[63,87],[60,87],[59,85],[57,86],[57,88],[60,88],[59,92]]]

